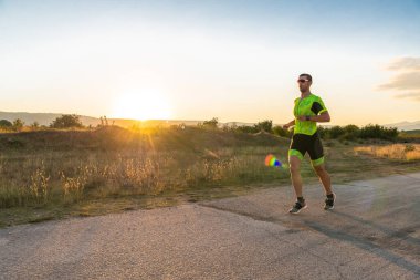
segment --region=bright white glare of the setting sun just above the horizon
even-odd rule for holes
[[[126,93],[117,97],[114,116],[132,120],[168,120],[170,106],[165,96],[154,91]]]

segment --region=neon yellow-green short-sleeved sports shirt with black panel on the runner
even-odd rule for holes
[[[321,113],[327,112],[323,100],[315,94],[309,94],[305,98],[295,98],[295,106],[293,108],[293,114],[295,116],[295,127],[294,134],[306,134],[314,135],[316,133],[317,126],[316,122],[311,121],[298,121],[297,116],[316,116]]]

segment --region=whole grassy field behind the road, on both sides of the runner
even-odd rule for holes
[[[264,165],[285,162],[288,143],[188,126],[0,134],[0,227],[290,186],[287,169]],[[419,144],[324,144],[334,183],[420,172]],[[316,182],[308,160],[302,175]]]

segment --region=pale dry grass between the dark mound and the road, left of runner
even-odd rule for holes
[[[270,153],[242,147],[211,156],[72,151],[2,157],[0,227],[227,197],[251,185],[287,182],[287,170],[264,166]]]

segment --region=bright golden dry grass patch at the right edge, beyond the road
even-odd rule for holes
[[[355,147],[356,153],[400,160],[420,159],[420,144],[392,144],[386,146]]]

